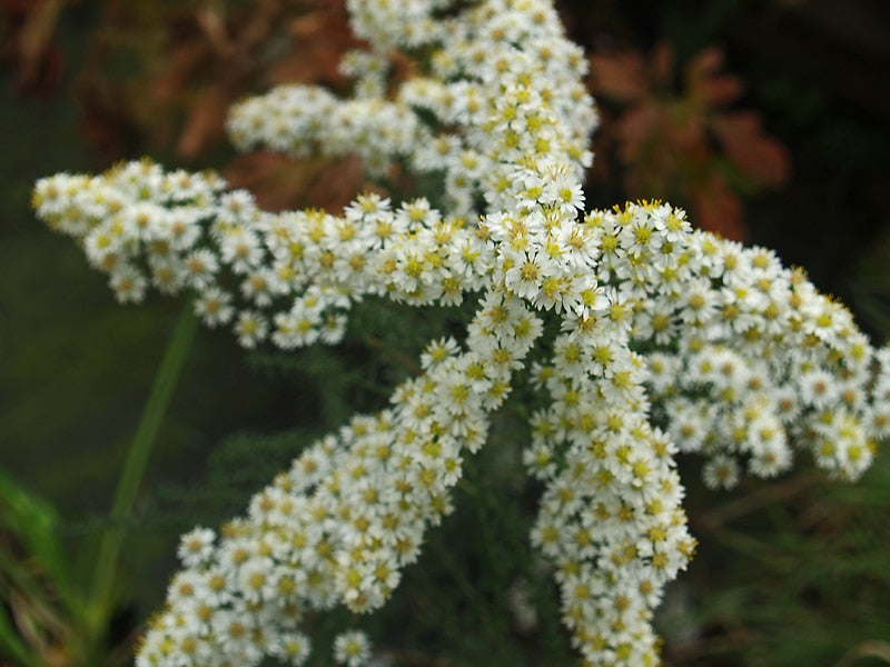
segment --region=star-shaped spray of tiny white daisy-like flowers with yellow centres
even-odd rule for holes
[[[668,205],[581,212],[596,116],[550,2],[449,6],[349,0],[370,44],[345,61],[354,98],[285,87],[229,122],[241,148],[404,165],[438,179],[442,210],[363,195],[342,216],[274,215],[216,176],[149,161],[36,187],[39,216],[121,301],[187,290],[245,347],[335,344],[366,296],[476,303],[465,337],[432,341],[386,409],[308,447],[219,536],[184,536],[139,665],[299,665],[306,613],[380,607],[520,370],[547,405],[524,452],[545,486],[532,540],[590,665],[657,663],[652,614],[695,548],[678,451],[706,457],[711,487],[742,467],[774,476],[800,448],[854,479],[890,436],[890,352],[801,271],[692,231]],[[415,77],[390,80],[396,48]],[[548,322],[560,334],[543,340]],[[356,633],[334,650],[350,666],[372,653]]]

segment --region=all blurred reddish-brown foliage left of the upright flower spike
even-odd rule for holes
[[[76,0],[2,0],[2,57],[26,94],[58,90],[65,67],[56,32]],[[359,42],[343,3],[327,0],[80,0],[93,6],[82,67],[76,73],[81,131],[102,162],[150,150],[184,163],[229,159],[221,169],[260,205],[305,201],[338,209],[363,186],[354,160],[305,160],[266,152],[233,158],[225,121],[250,91],[285,82],[343,89],[344,51]],[[210,158],[214,158],[212,160]]]

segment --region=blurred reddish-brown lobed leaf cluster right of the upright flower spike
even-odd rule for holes
[[[647,60],[636,51],[594,53],[591,84],[616,109],[604,115],[600,137],[615,145],[627,197],[654,192],[684,202],[701,227],[741,240],[740,195],[783,186],[790,158],[763,132],[756,111],[733,108],[743,83],[722,72],[722,62],[721,51],[708,48],[679,77],[674,49],[665,42]],[[609,149],[601,148],[602,160]]]

